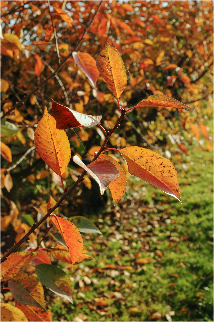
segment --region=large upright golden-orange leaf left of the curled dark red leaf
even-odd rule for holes
[[[34,143],[42,160],[62,176],[70,161],[70,143],[65,131],[56,128],[56,121],[46,107],[37,125]]]

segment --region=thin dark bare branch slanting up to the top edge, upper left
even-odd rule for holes
[[[82,35],[82,37],[81,37],[81,39],[79,40],[79,42],[76,44],[76,46],[74,47],[74,49],[73,49],[73,51],[72,52],[75,52],[77,49],[78,49],[78,47],[79,47],[79,45],[80,45],[80,43],[82,42],[82,40],[84,39],[84,37],[85,37],[85,35],[86,35],[86,33],[88,32],[88,29],[90,28],[90,25],[92,24],[92,22],[93,22],[93,20],[94,20],[94,18],[95,18],[95,16],[96,16],[96,14],[98,13],[98,10],[99,10],[99,8],[100,8],[100,6],[101,6],[101,4],[102,4],[102,0],[100,1],[100,3],[99,3],[99,5],[98,5],[98,7],[97,7],[97,10],[96,10],[96,12],[95,12],[95,14],[93,15],[93,17],[92,17],[92,19],[91,19],[91,21],[90,21],[90,23],[88,24],[88,27],[86,28],[86,30],[84,31],[84,33],[83,33],[83,35]],[[32,90],[27,96],[25,96],[21,101],[19,101],[18,103],[16,103],[14,106],[12,106],[12,108],[11,109],[9,109],[7,112],[5,112],[2,116],[1,116],[1,119],[2,118],[5,118],[5,116],[6,115],[8,115],[8,114],[10,114],[10,112],[12,112],[17,106],[19,106],[20,104],[22,104],[23,103],[23,101],[24,100],[26,100],[26,99],[28,99],[29,97],[31,97],[31,95],[36,91],[36,90],[38,90],[41,86],[43,86],[49,79],[51,79],[59,70],[60,70],[60,68],[66,63],[66,61],[70,58],[70,56],[72,55],[72,52],[68,55],[68,56],[66,56],[65,57],[65,59],[60,63],[60,64],[58,64],[58,66],[57,66],[57,68],[55,69],[55,71],[53,71],[47,78],[45,78],[43,81],[41,81],[40,82],[40,84],[38,85],[38,86],[36,86],[35,88],[34,88],[34,90]]]

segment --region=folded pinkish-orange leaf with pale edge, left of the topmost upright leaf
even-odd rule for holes
[[[73,52],[72,55],[79,68],[86,74],[91,85],[95,88],[99,77],[96,60],[88,52]]]

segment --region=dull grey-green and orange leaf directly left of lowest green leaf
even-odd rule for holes
[[[22,273],[8,281],[13,297],[22,304],[33,305],[46,311],[42,283],[33,275]]]

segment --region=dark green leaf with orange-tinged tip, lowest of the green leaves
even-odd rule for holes
[[[73,304],[72,284],[63,270],[50,264],[39,264],[35,269],[38,279],[43,285]]]

